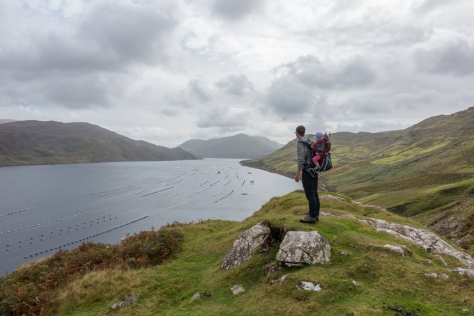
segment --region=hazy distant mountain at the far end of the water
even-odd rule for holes
[[[263,136],[237,134],[220,139],[192,139],[178,148],[205,158],[258,158],[281,148],[282,144]]]

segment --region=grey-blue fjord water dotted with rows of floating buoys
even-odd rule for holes
[[[72,249],[173,221],[240,221],[293,180],[240,159],[0,168],[0,273]]]

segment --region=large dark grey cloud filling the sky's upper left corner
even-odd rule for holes
[[[28,45],[3,49],[0,65],[38,73],[116,71],[130,63],[165,63],[166,36],[176,24],[172,15],[153,6],[102,2],[84,13],[69,33],[35,30]]]

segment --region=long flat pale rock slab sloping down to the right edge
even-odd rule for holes
[[[474,268],[474,258],[466,253],[458,251],[433,232],[407,225],[388,223],[382,219],[360,219],[360,221],[369,223],[379,232],[387,232],[388,234],[404,239],[407,242],[418,244],[425,248],[429,253],[451,255],[452,257],[457,258],[460,262],[466,264],[466,266]]]

